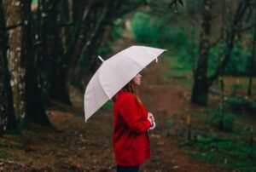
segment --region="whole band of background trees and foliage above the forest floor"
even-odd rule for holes
[[[252,95],[253,7],[253,0],[1,0],[0,134],[27,121],[50,125],[50,103],[71,105],[69,86],[84,90],[101,63],[96,56],[112,54],[125,31],[193,72],[192,103],[207,105],[224,75],[248,77]]]

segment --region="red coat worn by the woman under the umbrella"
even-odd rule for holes
[[[150,157],[148,112],[136,97],[120,92],[113,105],[113,152],[116,163],[135,166]]]

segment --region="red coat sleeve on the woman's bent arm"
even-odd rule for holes
[[[148,119],[143,119],[142,114],[137,111],[137,102],[134,97],[129,97],[122,101],[119,106],[119,115],[124,119],[128,127],[138,133],[146,132],[151,123]]]

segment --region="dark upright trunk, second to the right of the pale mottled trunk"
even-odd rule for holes
[[[62,16],[58,13],[61,3],[57,0],[49,1],[46,8],[48,9],[45,21],[47,23],[46,46],[49,56],[47,62],[49,66],[49,98],[71,105],[65,77],[67,60],[63,59],[64,49],[61,43],[61,26],[59,20]]]

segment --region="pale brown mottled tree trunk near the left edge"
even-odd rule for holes
[[[26,116],[25,107],[25,74],[26,74],[26,27],[27,11],[26,5],[29,0],[3,0],[5,9],[6,26],[17,27],[9,30],[9,70],[11,72],[11,86],[13,90],[15,115],[19,123],[23,123]],[[24,9],[25,8],[25,9]]]

